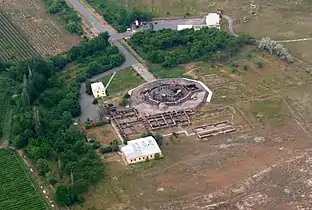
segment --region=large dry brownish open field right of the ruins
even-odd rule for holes
[[[190,134],[194,126],[229,120],[236,132],[207,139],[168,136],[162,146],[165,158],[159,161],[126,167],[118,156],[103,160],[106,181],[74,209],[309,208],[309,73],[258,51],[228,66],[192,63],[185,71],[203,81],[214,95],[192,117],[192,126],[174,131]]]

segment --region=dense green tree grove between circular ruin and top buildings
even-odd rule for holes
[[[129,40],[143,58],[167,68],[196,60],[223,61],[251,42],[249,36],[235,37],[214,28],[149,30],[135,33]]]

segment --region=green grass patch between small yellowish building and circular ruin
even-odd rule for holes
[[[100,81],[106,86],[110,77],[111,75],[104,76],[100,79]],[[137,75],[137,73],[130,67],[117,72],[109,85],[107,92],[110,95],[114,95],[118,92],[131,90],[142,83],[144,83],[144,79]]]

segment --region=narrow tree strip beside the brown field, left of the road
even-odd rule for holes
[[[70,33],[82,35],[82,22],[78,13],[71,8],[65,0],[43,0],[48,6],[48,12],[57,14],[66,22],[66,28]]]

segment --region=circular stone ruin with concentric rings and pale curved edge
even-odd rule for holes
[[[212,92],[203,83],[182,79],[160,79],[131,91],[130,104],[140,113],[153,115],[168,111],[199,109],[210,101]]]

